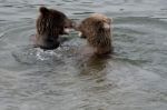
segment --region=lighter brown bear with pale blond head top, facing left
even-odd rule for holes
[[[81,38],[86,38],[88,44],[97,54],[112,52],[111,44],[111,19],[100,13],[94,13],[81,21],[77,27]]]

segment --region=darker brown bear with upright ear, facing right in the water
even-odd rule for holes
[[[59,36],[66,34],[73,22],[58,10],[40,7],[40,16],[37,19],[36,47],[42,49],[56,49],[60,44]]]

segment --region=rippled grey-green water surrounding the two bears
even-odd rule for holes
[[[55,51],[31,47],[38,8],[114,18],[111,57],[82,53],[72,32]],[[167,110],[166,0],[0,0],[0,110]]]

